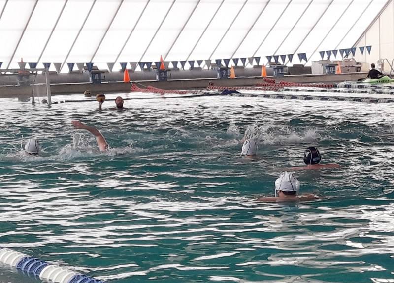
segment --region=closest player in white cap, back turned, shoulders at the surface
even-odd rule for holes
[[[319,199],[314,194],[302,194],[299,192],[299,181],[291,172],[282,172],[279,178],[275,181],[275,196],[274,197],[259,197],[257,201],[264,202],[295,202],[302,200]]]

